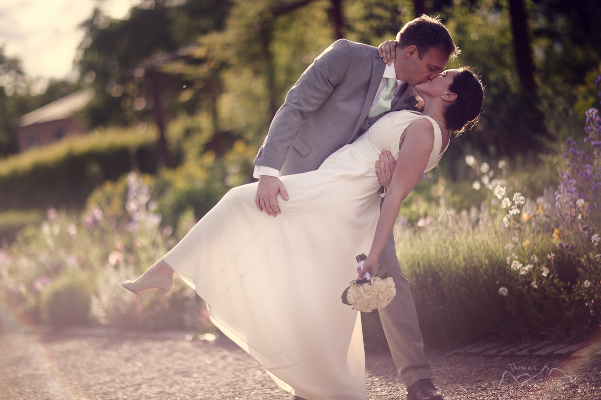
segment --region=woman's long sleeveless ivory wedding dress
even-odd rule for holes
[[[373,240],[376,160],[383,149],[398,157],[401,134],[417,118],[434,126],[432,169],[441,158],[438,124],[391,112],[318,170],[282,176],[289,200],[278,195],[278,216],[258,210],[256,183],[233,188],[164,257],[209,303],[213,323],[293,395],[367,399],[361,318],[341,294]]]

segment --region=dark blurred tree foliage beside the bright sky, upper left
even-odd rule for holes
[[[88,109],[92,127],[133,126],[149,119],[155,107],[151,100],[153,90],[159,92],[158,97],[163,98],[172,113],[182,110],[182,103],[186,102],[192,104],[185,109],[194,113],[202,100],[197,96],[177,101],[186,86],[195,87],[194,81],[167,73],[162,74],[162,83],[148,85],[148,77],[136,76],[135,70],[142,65],[148,67],[151,57],[163,64],[166,53],[174,53],[201,35],[221,29],[230,3],[197,0],[170,5],[159,0],[153,4],[132,7],[129,18],[124,20],[110,20],[96,9],[82,24],[86,30],[80,45],[82,81],[93,82],[97,93]]]

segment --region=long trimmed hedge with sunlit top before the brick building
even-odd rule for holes
[[[0,160],[0,210],[82,207],[107,179],[156,173],[155,130],[98,130]]]

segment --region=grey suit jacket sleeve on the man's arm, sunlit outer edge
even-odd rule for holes
[[[335,41],[301,75],[286,95],[255,158],[255,166],[282,169],[288,149],[315,110],[340,83],[352,60],[348,41]]]

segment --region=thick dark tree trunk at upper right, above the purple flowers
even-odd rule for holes
[[[516,54],[517,74],[520,77],[522,88],[526,92],[536,95],[534,64],[530,49],[530,35],[528,34],[528,16],[526,16],[523,0],[509,0],[509,14],[511,16],[511,33],[513,34],[513,49]]]

